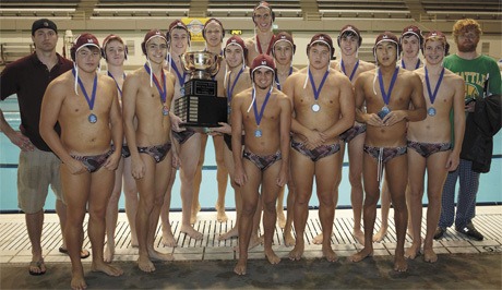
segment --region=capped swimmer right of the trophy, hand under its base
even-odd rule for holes
[[[231,147],[231,124],[230,124],[230,112],[231,112],[231,100],[232,98],[251,87],[251,77],[248,68],[246,67],[246,56],[248,50],[246,49],[244,41],[239,36],[232,36],[228,38],[225,49],[224,56],[225,61],[227,63],[227,74],[225,75],[225,97],[227,98],[227,106],[228,106],[228,123],[220,123],[222,126],[213,128],[213,134],[223,134],[223,138],[225,141],[224,147],[224,160],[225,167],[228,169],[228,173],[230,174],[230,185],[235,192],[236,198],[236,223],[234,227],[218,237],[218,240],[226,240],[234,237],[238,237],[238,225],[240,221],[240,214],[242,213],[242,197],[241,197],[241,189],[235,182],[235,165],[234,165],[234,157],[232,157],[232,147]],[[243,144],[241,144],[243,145]],[[239,149],[242,152],[242,146]],[[261,210],[260,216],[258,216],[258,221],[253,221],[253,231],[251,234],[251,242],[250,247],[253,247],[260,243],[258,238],[258,228],[261,218]]]

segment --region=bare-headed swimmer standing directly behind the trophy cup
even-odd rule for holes
[[[202,36],[205,40],[205,50],[210,51],[215,55],[224,56],[222,45],[223,38],[225,37],[225,28],[223,24],[217,19],[210,19],[204,24],[204,28],[202,29]],[[224,78],[225,78],[225,62],[222,61],[219,65],[218,73],[213,76],[213,81],[218,82],[218,97],[224,96]],[[218,197],[216,200],[216,212],[219,222],[227,221],[228,217],[225,214],[225,193],[227,192],[227,183],[228,183],[228,171],[225,167],[224,161],[224,141],[220,134],[212,134],[213,136],[213,145],[215,150],[215,159],[216,159],[216,181],[218,182]],[[198,169],[195,172],[195,181],[194,181],[194,189],[193,189],[193,201],[192,201],[192,216],[190,218],[190,222],[194,223],[196,220],[196,214],[201,210],[201,204],[199,203],[199,193],[201,189],[202,182],[202,166],[204,165],[204,156],[205,156],[205,147],[207,144],[207,135],[201,134],[201,154],[199,157]]]

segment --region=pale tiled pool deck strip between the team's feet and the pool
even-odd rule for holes
[[[434,251],[438,254],[478,254],[487,252],[502,252],[502,206],[478,206],[474,223],[485,234],[483,241],[469,240],[467,237],[449,228],[443,239],[434,241]],[[378,209],[375,231],[380,228],[380,209]],[[155,245],[162,252],[172,253],[175,261],[225,261],[236,259],[234,251],[238,239],[219,241],[220,233],[229,230],[235,223],[235,212],[227,212],[229,217],[226,222],[216,220],[215,212],[201,212],[194,228],[203,232],[200,241],[190,239],[180,232],[181,213],[171,213],[170,220],[174,229],[177,247],[163,245],[160,225],[157,228]],[[393,217],[391,209],[390,217]],[[87,219],[85,219],[84,247],[91,249],[86,232]],[[346,257],[361,249],[351,234],[352,212],[351,209],[337,209],[333,225],[332,244],[338,256]],[[421,234],[425,235],[426,225],[422,220]],[[29,263],[31,244],[27,238],[24,215],[3,214],[0,215],[0,263]],[[318,210],[310,210],[306,228],[306,258],[318,258],[322,256],[321,245],[313,244],[312,239],[321,232],[321,223],[318,218]],[[283,230],[276,226],[274,235],[274,250],[279,257],[287,257],[291,247],[284,245]],[[409,246],[411,239],[406,237],[406,245]],[[44,258],[46,263],[70,263],[70,258],[59,253],[61,235],[59,220],[56,214],[46,214],[41,237]],[[393,255],[396,246],[395,227],[393,218],[389,220],[387,235],[382,242],[374,243],[374,255]],[[250,251],[249,258],[263,259],[263,246],[256,246]],[[120,213],[116,230],[116,255],[115,261],[129,262],[138,259],[138,249],[130,244],[130,230],[125,214]],[[91,258],[83,259],[91,263]]]

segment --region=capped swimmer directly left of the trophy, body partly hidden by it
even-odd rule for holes
[[[169,56],[168,65],[169,71],[175,74],[175,97],[174,100],[184,95],[184,83],[189,81],[189,74],[184,72],[180,56],[187,52],[190,46],[190,33],[187,25],[180,20],[175,20],[169,25],[168,31]],[[176,114],[174,122],[181,123],[181,119]],[[194,191],[194,178],[196,166],[199,164],[199,154],[201,152],[201,134],[192,130],[177,129],[172,132],[172,140],[175,148],[172,150],[175,168],[169,180],[169,185],[166,191],[166,198],[162,209],[163,221],[163,243],[167,246],[176,246],[176,240],[172,235],[172,229],[169,222],[169,207],[171,201],[172,184],[176,178],[176,168],[180,167],[181,177],[181,229],[180,231],[188,234],[194,240],[202,240],[202,233],[196,231],[191,225],[192,216],[192,201]]]

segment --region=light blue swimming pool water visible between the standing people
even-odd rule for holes
[[[12,128],[17,129],[20,124],[19,107],[16,98],[8,98],[5,101],[0,101],[5,120]],[[502,203],[502,133],[499,132],[494,137],[493,160],[491,164],[491,171],[481,174],[479,192],[477,196],[478,204],[501,204]],[[17,212],[17,161],[19,161],[19,147],[14,146],[9,138],[2,133],[0,134],[0,213]],[[338,207],[350,207],[350,183],[348,181],[348,156],[344,156],[343,178],[339,185]],[[179,174],[179,173],[178,173]],[[202,172],[202,184],[200,193],[200,203],[203,209],[214,209],[217,198],[217,183],[216,183],[216,160],[214,155],[213,142],[208,141],[206,146],[206,154],[204,167]],[[172,186],[171,209],[180,210],[181,196],[180,196],[180,179],[177,176]],[[315,190],[315,188],[314,188]],[[45,209],[55,209],[55,195],[49,193],[46,202]],[[286,198],[284,201],[286,204]],[[427,204],[427,194],[423,195],[423,203]],[[312,194],[310,206],[315,207],[319,205],[318,197]],[[225,197],[225,207],[235,208],[234,192],[230,184],[227,185],[227,193]],[[119,202],[119,208],[124,208],[123,194]]]

